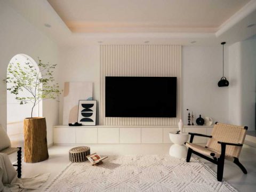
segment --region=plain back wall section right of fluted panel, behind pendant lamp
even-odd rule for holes
[[[227,49],[225,50],[225,55]],[[227,55],[228,56],[228,55]],[[227,58],[226,56],[226,58]],[[226,64],[226,65],[225,65]],[[225,59],[228,78],[228,62]],[[187,124],[188,111],[194,112],[195,120],[201,114],[213,122],[229,123],[228,90],[218,87],[222,77],[222,46],[183,46],[182,49],[182,119]],[[228,78],[229,79],[229,78]],[[194,120],[194,124],[195,124]]]

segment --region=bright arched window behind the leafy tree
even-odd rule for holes
[[[26,54],[15,55],[11,59],[8,68],[14,68],[15,66],[19,65],[20,68],[25,69],[26,63],[28,62],[30,65],[34,66],[37,71],[39,71],[35,60]],[[41,73],[39,73],[39,75],[41,76]],[[10,74],[8,70],[7,77],[12,77],[12,74]],[[13,85],[12,83],[7,83],[6,86],[9,88]],[[20,102],[15,99],[17,96],[30,97],[28,90],[22,90],[23,91],[20,92],[20,95],[15,95],[12,94],[11,91],[7,91],[7,134],[9,135],[13,146],[23,146],[23,119],[31,116],[31,108],[33,107],[33,103],[28,102],[26,104],[20,105]],[[33,116],[42,116],[42,101],[34,107]]]

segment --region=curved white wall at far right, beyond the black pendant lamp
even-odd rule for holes
[[[229,47],[229,119],[255,130],[256,37]]]

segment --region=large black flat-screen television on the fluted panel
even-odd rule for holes
[[[177,77],[106,77],[106,117],[176,117]]]

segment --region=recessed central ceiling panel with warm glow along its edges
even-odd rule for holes
[[[73,32],[216,32],[250,0],[47,0]]]

